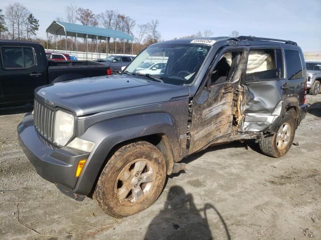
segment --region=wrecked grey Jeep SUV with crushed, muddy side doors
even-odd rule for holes
[[[164,62],[156,74],[142,62]],[[37,172],[76,200],[123,217],[150,206],[180,161],[213,144],[256,139],[272,157],[305,117],[306,68],[295,42],[241,36],[148,46],[120,75],[35,90],[18,126]]]

